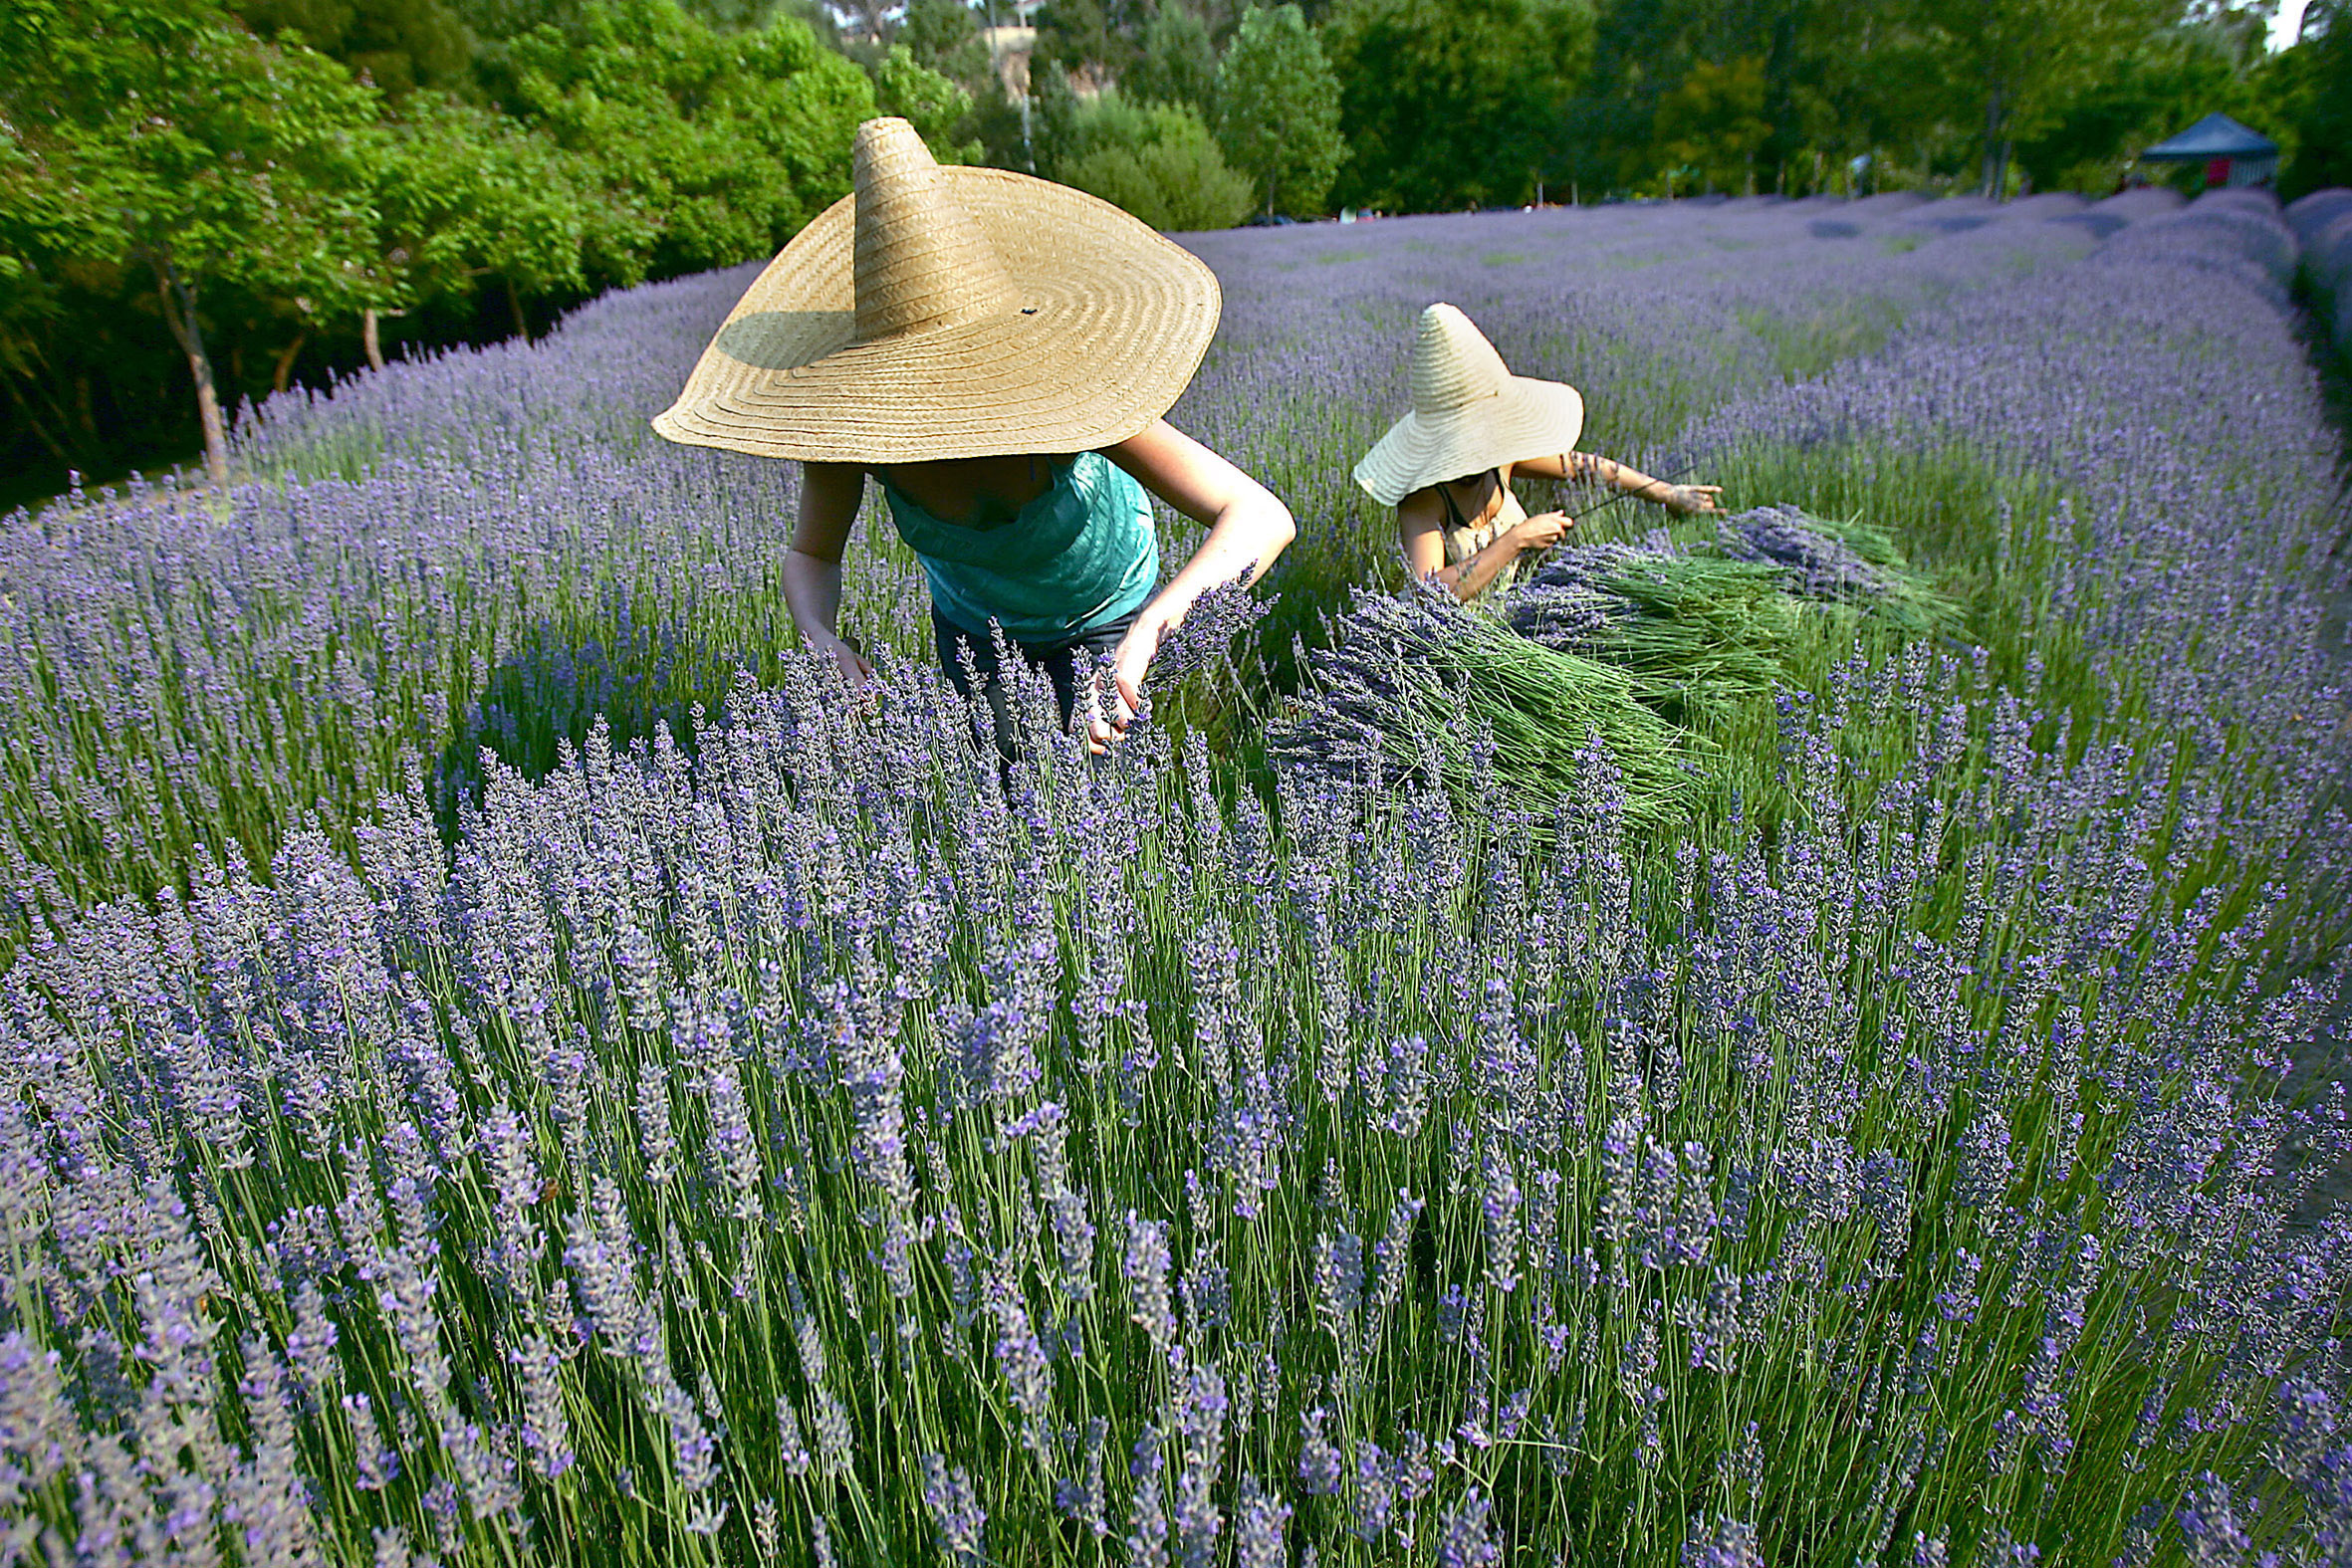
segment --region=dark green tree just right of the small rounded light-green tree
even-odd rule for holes
[[[1341,200],[1524,202],[1592,59],[1585,0],[1343,0],[1324,38],[1355,150]]]

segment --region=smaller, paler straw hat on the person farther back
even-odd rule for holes
[[[1442,480],[1566,451],[1583,428],[1573,386],[1512,376],[1468,315],[1430,306],[1414,339],[1414,411],[1364,454],[1355,482],[1397,505]]]

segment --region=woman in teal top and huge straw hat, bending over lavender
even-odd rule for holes
[[[802,463],[783,592],[851,679],[842,548],[882,484],[922,559],[938,658],[964,663],[1011,750],[990,628],[1054,682],[1077,677],[1101,750],[1141,708],[1160,642],[1218,583],[1256,581],[1296,534],[1256,480],[1160,418],[1216,331],[1209,268],[1091,195],[1004,169],[941,169],[903,120],[858,127],[856,190],[776,256],[720,327],[670,440]],[[1150,496],[1209,527],[1160,583]]]

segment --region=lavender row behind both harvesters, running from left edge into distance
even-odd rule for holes
[[[1430,299],[1585,386],[1595,437],[1623,447],[1776,381],[1792,348],[1865,348],[2089,242],[2067,223],[1945,235],[1891,202],[1835,212],[1830,237],[1811,207],[1209,235],[1228,329],[1176,418],[1310,520],[1287,571],[1301,599],[1343,602],[1392,555],[1345,473],[1404,397]],[[640,289],[539,348],[273,400],[242,425],[252,477],[226,503],[151,489],[0,527],[0,886],[19,910],[151,889],[193,846],[263,863],[303,813],[365,811],[405,750],[447,799],[480,745],[546,766],[593,712],[649,733],[717,705],[739,663],[774,677],[790,468],[644,425],[743,280]],[[927,646],[894,543],[861,548],[854,574],[854,630]]]

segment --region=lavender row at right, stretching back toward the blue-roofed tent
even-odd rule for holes
[[[2338,444],[2286,306],[2296,244],[2265,195],[2206,197],[1917,317],[1877,355],[1700,418],[1698,451],[1872,468],[1940,454],[2049,505],[1933,541],[1999,581],[2046,557],[2013,635],[2079,656],[2199,750],[2246,745],[2343,783],[2343,649],[2321,642],[2352,562],[2328,557]],[[2183,303],[2194,301],[2194,310]]]

